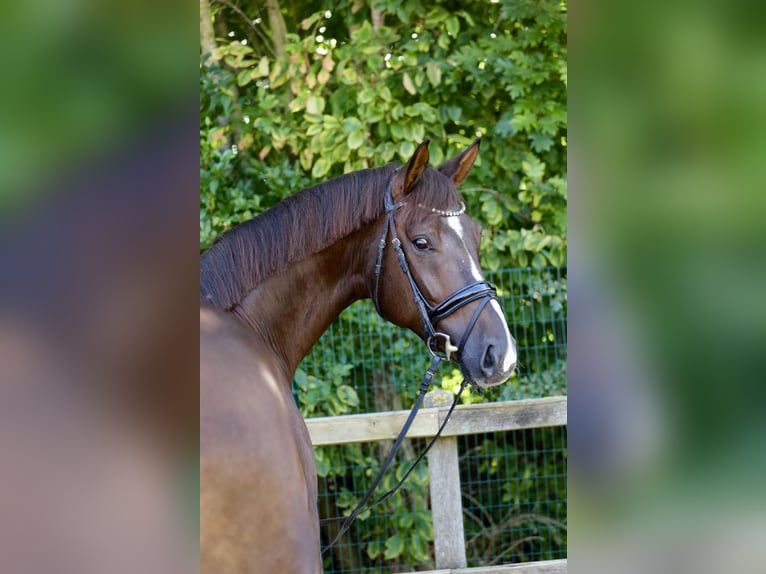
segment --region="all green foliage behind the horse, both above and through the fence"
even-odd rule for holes
[[[212,5],[218,30],[231,35],[219,38],[221,65],[200,65],[200,248],[308,185],[404,161],[426,138],[438,165],[481,135],[479,159],[461,191],[484,227],[482,266],[498,285],[521,366],[511,383],[468,389],[463,402],[565,394],[566,274],[557,269],[566,264],[566,2],[284,3],[284,58],[272,53],[262,4],[237,4],[248,22]],[[370,5],[383,11],[382,26],[373,26]],[[531,269],[498,272],[507,268]],[[388,325],[369,302],[346,310],[333,331],[296,374],[304,416],[409,408],[428,362],[422,342]],[[436,384],[454,391],[459,381],[443,367]],[[316,449],[328,516],[351,511],[389,446]],[[404,449],[379,493],[394,485],[422,446]],[[508,455],[491,439],[476,449],[496,463]],[[506,511],[487,510],[496,524],[515,505],[514,512],[523,508],[534,517],[535,528],[546,528],[553,524],[551,508],[530,510],[522,502],[532,504],[534,477],[563,475],[563,464],[560,456],[528,457],[527,487],[504,477],[466,494],[479,507],[487,507],[487,496],[506,498]],[[427,488],[423,466],[346,535],[363,553],[352,556],[341,547],[326,559],[326,571],[433,566]],[[563,492],[555,488],[551,496],[565,501],[565,485]],[[561,540],[560,525],[550,528]],[[492,532],[501,536],[497,528]],[[474,539],[490,545],[486,536]],[[559,557],[553,550],[538,554]]]

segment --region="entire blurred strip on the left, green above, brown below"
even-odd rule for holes
[[[197,32],[143,4],[0,24],[4,573],[198,568]]]

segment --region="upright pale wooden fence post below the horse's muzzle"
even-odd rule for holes
[[[431,391],[425,397],[424,406],[446,409],[452,399],[452,394],[446,391]],[[428,453],[428,474],[436,567],[465,568],[463,502],[456,437],[442,437],[436,441]]]

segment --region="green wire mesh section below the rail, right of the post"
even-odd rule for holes
[[[468,566],[566,558],[566,427],[460,437]]]

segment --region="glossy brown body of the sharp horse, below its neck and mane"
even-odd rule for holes
[[[256,333],[209,308],[200,449],[202,572],[321,572],[313,450],[289,381]]]

